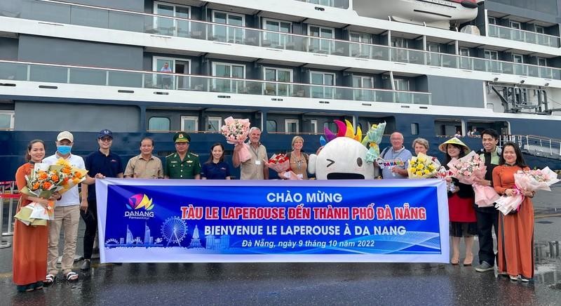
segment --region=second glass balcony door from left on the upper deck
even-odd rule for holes
[[[212,14],[212,22],[237,26],[224,27],[222,25],[212,25],[213,40],[234,44],[243,44],[245,29],[241,29],[240,27],[245,26],[244,15],[214,11]]]

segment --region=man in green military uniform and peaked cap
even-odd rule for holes
[[[165,178],[201,179],[201,162],[198,155],[188,152],[191,137],[184,132],[173,135],[175,153],[165,157]]]

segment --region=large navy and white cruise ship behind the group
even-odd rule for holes
[[[229,116],[262,128],[269,154],[324,128],[386,122],[429,154],[457,131],[494,128],[532,166],[561,168],[557,0],[2,0],[0,180],[29,140],[75,154],[173,152],[175,131],[208,157]],[[480,139],[464,138],[474,149]],[[384,138],[381,147],[388,145]],[[227,145],[227,154],[232,147]]]

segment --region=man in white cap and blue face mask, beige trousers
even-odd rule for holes
[[[56,164],[59,159],[65,159],[71,166],[85,169],[83,159],[71,153],[74,145],[74,135],[68,131],[60,132],[55,142],[57,152],[43,159],[45,164]],[[94,178],[87,177],[84,183],[93,184]],[[60,238],[60,227],[65,227],[65,248],[62,252],[62,273],[68,281],[78,279],[78,274],[72,271],[74,255],[76,254],[76,239],[78,237],[78,224],[80,222],[80,197],[78,185],[69,189],[65,194],[58,195],[55,203],[54,220],[48,226],[48,255],[46,283],[52,284],[58,274],[58,242]]]

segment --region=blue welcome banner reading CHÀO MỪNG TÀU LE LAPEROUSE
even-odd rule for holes
[[[102,262],[449,262],[442,180],[96,180]]]

